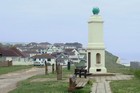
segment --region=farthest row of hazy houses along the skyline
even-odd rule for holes
[[[38,52],[41,54],[48,53],[52,54],[54,52],[64,52],[64,49],[78,49],[82,48],[82,44],[75,43],[54,43],[50,44],[48,42],[35,43],[31,42],[27,45],[16,44],[15,45],[20,51],[24,52]]]

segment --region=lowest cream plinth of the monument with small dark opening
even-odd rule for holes
[[[91,73],[91,74],[104,74],[104,73],[107,73],[107,70],[105,67],[91,67],[89,69],[89,73]]]

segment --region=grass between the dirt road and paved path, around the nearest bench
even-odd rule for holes
[[[73,74],[74,69],[68,71],[63,69],[63,79],[58,80],[56,74],[33,76],[27,80],[18,83],[17,89],[10,93],[68,93],[69,77]],[[84,88],[78,89],[73,93],[90,93],[91,84]]]

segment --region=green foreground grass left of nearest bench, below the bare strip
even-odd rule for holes
[[[66,93],[68,83],[62,81],[21,82],[17,89],[10,93]]]

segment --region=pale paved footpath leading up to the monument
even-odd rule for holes
[[[110,81],[112,80],[129,80],[133,75],[121,75],[116,74],[115,76],[94,76],[96,83],[93,84],[91,93],[112,93],[110,88]]]

